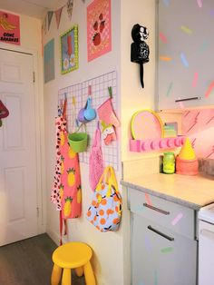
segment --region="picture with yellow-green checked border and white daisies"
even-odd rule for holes
[[[60,37],[61,45],[61,74],[67,74],[78,69],[78,26],[71,29]]]

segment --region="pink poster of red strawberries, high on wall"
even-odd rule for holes
[[[111,0],[94,0],[87,6],[88,62],[112,51]]]

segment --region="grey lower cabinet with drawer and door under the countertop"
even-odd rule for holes
[[[197,284],[195,211],[131,188],[128,192],[131,284]]]

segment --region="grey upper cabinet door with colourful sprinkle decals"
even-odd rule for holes
[[[214,104],[213,0],[159,1],[159,110]]]

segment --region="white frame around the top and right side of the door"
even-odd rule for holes
[[[43,62],[36,49],[24,48],[15,44],[0,43],[0,49],[23,54],[32,54],[34,63],[34,103],[35,103],[35,132],[36,132],[36,196],[38,208],[38,234],[46,231],[46,187],[44,160],[44,84]],[[1,51],[1,50],[0,50]],[[40,70],[39,70],[40,69]],[[39,73],[39,71],[41,71]]]

